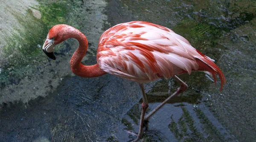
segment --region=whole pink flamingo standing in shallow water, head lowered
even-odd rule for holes
[[[54,46],[67,38],[75,38],[79,41],[79,47],[70,60],[70,67],[74,74],[92,78],[110,73],[139,84],[143,103],[139,133],[133,142],[142,139],[143,122],[148,121],[168,100],[188,88],[177,75],[204,71],[212,75],[216,84],[215,75],[218,74],[221,80],[220,91],[226,82],[223,73],[214,64],[214,60],[192,47],[189,41],[171,29],[154,23],[131,21],[117,24],[103,32],[96,54],[97,64],[91,66],[81,64],[88,47],[85,35],[78,29],[65,24],[55,25],[49,30],[43,45],[44,53],[55,60]],[[155,81],[158,78],[174,78],[180,87],[145,116],[148,101],[143,83]]]

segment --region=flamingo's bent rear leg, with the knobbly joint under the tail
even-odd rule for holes
[[[179,84],[180,87],[178,88],[178,90],[173,93],[171,96],[169,96],[166,100],[164,100],[161,104],[159,104],[154,110],[152,110],[150,113],[148,113],[148,115],[145,117],[144,119],[144,123],[146,126],[146,129],[148,129],[148,119],[157,112],[157,110],[159,110],[161,107],[163,107],[163,105],[165,105],[170,99],[178,96],[180,93],[184,92],[187,88],[188,85],[186,83],[184,83],[180,78],[178,78],[176,75],[173,76],[172,78],[174,78]]]

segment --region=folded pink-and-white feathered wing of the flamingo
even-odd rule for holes
[[[102,34],[97,62],[110,74],[149,82],[198,70],[196,55],[197,50],[171,29],[133,21],[113,26]]]

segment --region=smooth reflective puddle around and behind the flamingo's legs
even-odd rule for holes
[[[160,102],[166,99],[169,94],[168,81],[157,82],[153,89],[147,93],[150,110],[154,109]],[[178,84],[173,83],[174,90]],[[144,142],[224,142],[230,140],[230,136],[221,124],[210,113],[209,110],[199,101],[201,93],[198,90],[188,89],[177,98],[169,101],[166,106],[160,109],[149,119],[149,130],[144,132]],[[122,119],[125,125],[124,130],[137,132],[140,120],[141,101],[135,104]],[[165,131],[169,130],[169,132]],[[134,136],[129,136],[135,139]],[[108,142],[117,142],[109,138]]]

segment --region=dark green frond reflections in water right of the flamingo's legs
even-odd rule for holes
[[[209,121],[205,114],[198,108],[194,107],[194,112],[200,123],[202,124],[202,132],[196,128],[195,121],[189,114],[185,107],[181,107],[183,114],[176,123],[171,116],[172,122],[169,124],[169,129],[174,133],[175,138],[184,142],[221,142],[224,141],[224,136],[217,130],[217,128]],[[206,136],[206,137],[204,137]]]

